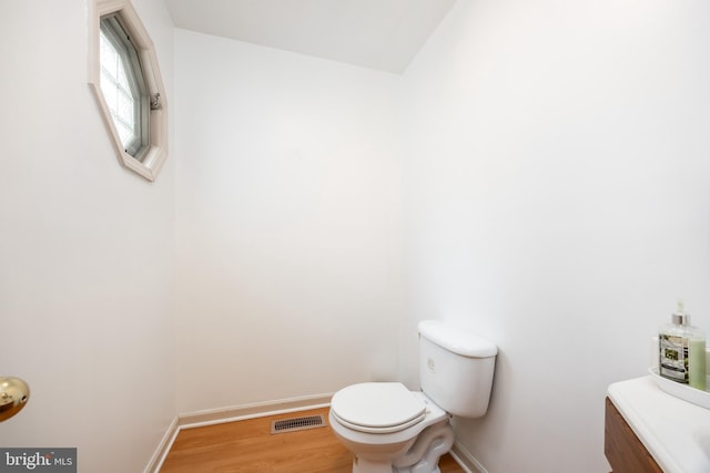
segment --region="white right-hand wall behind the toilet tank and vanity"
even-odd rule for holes
[[[408,304],[500,347],[458,440],[490,472],[600,472],[609,383],[684,297],[710,329],[710,6],[462,0],[404,76]]]

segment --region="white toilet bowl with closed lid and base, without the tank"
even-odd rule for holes
[[[329,421],[335,436],[355,453],[354,473],[435,473],[439,456],[454,443],[446,411],[398,382],[338,391]]]

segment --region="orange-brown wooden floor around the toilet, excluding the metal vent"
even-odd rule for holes
[[[271,434],[278,419],[323,414],[317,409],[270,418],[183,429],[178,434],[161,473],[351,473],[352,454],[339,444],[331,428]],[[464,473],[445,455],[442,473]]]

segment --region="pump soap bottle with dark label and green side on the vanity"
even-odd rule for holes
[[[706,337],[690,325],[683,302],[671,316],[671,323],[659,330],[659,374],[692,388],[706,389]]]

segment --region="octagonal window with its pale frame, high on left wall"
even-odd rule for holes
[[[128,168],[154,181],[168,153],[168,116],[158,59],[129,0],[97,0],[90,84]]]

